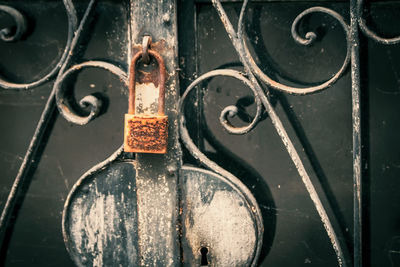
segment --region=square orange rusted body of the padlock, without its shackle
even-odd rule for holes
[[[167,116],[125,114],[125,152],[165,154],[167,143]]]

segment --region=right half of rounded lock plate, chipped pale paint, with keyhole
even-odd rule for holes
[[[250,266],[260,236],[249,196],[226,178],[199,168],[180,171],[184,266]]]

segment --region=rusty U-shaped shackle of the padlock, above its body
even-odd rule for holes
[[[158,63],[159,70],[159,95],[158,95],[158,115],[165,115],[165,64],[164,60],[159,53],[149,49],[148,53],[150,57],[154,57]],[[143,52],[137,52],[132,60],[129,67],[129,107],[128,113],[135,114],[135,87],[136,87],[136,63],[142,57]]]

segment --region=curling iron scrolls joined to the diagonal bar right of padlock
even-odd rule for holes
[[[340,70],[329,80],[326,82],[317,85],[317,86],[312,86],[312,87],[306,87],[306,88],[300,88],[300,87],[291,87],[287,86],[281,83],[278,83],[268,77],[265,73],[263,73],[260,68],[257,66],[255,63],[253,57],[251,56],[249,49],[247,47],[245,38],[244,38],[244,31],[243,31],[243,19],[244,19],[244,14],[246,11],[246,7],[248,4],[248,0],[245,0],[241,12],[239,15],[239,22],[238,22],[238,27],[237,31],[233,28],[229,17],[227,16],[224,8],[222,7],[222,4],[219,0],[213,0],[213,5],[214,8],[216,9],[224,27],[225,30],[240,58],[241,63],[243,64],[243,67],[245,69],[245,74],[239,73],[234,70],[213,70],[210,72],[207,72],[203,75],[201,75],[199,78],[197,78],[195,81],[193,81],[189,87],[186,89],[185,93],[182,96],[181,103],[180,103],[180,132],[181,132],[181,138],[189,152],[192,154],[194,158],[199,160],[199,162],[204,165],[205,167],[216,171],[217,173],[228,177],[229,179],[237,179],[233,175],[231,175],[228,171],[224,170],[222,167],[218,166],[216,163],[208,159],[196,145],[192,141],[191,137],[189,136],[188,130],[185,126],[185,117],[184,117],[184,101],[187,99],[187,95],[189,92],[201,81],[204,81],[206,79],[212,78],[214,76],[230,76],[237,78],[241,80],[243,83],[245,83],[254,93],[254,98],[255,98],[255,103],[257,105],[257,112],[255,118],[252,120],[252,122],[245,126],[245,127],[239,127],[236,128],[232,124],[229,123],[228,118],[235,116],[237,114],[238,108],[236,106],[228,106],[224,108],[221,112],[220,115],[220,123],[221,125],[229,132],[233,134],[245,134],[249,131],[251,131],[257,124],[257,122],[260,120],[260,116],[262,113],[261,107],[264,107],[265,111],[268,113],[269,118],[271,119],[272,124],[274,125],[278,135],[282,139],[283,144],[285,145],[290,157],[292,158],[293,163],[295,164],[298,173],[310,195],[311,200],[314,203],[314,206],[321,218],[321,221],[324,225],[324,228],[326,230],[326,233],[332,243],[332,247],[336,253],[337,260],[340,266],[346,266],[348,262],[350,262],[348,259],[345,257],[345,252],[342,249],[342,244],[339,241],[339,238],[336,234],[335,229],[332,226],[331,220],[328,217],[325,207],[322,204],[319,195],[303,165],[302,160],[300,159],[299,154],[297,153],[291,139],[289,138],[289,135],[287,134],[285,127],[283,126],[279,116],[276,114],[275,109],[273,105],[270,102],[268,91],[264,91],[264,89],[261,87],[259,80],[264,82],[266,85],[266,88],[272,88],[276,90],[280,90],[286,93],[291,93],[291,94],[298,94],[298,95],[304,95],[304,94],[310,94],[310,93],[315,93],[318,91],[321,91],[323,89],[326,89],[330,87],[332,84],[334,84],[345,72],[346,68],[349,65],[350,62],[350,28],[349,25],[344,21],[343,17],[339,15],[337,12],[323,8],[323,7],[313,7],[309,8],[302,13],[300,13],[297,18],[294,20],[292,24],[292,37],[296,42],[298,42],[301,45],[310,45],[315,39],[316,39],[316,34],[314,32],[308,32],[305,37],[301,37],[299,33],[297,32],[298,24],[299,22],[307,15],[312,14],[312,13],[324,13],[327,15],[330,15],[334,19],[336,19],[343,30],[345,31],[346,35],[346,42],[347,42],[347,51],[346,51],[346,58],[343,62],[343,65],[341,66]],[[233,176],[233,177],[232,177]],[[246,188],[246,190],[248,190]]]

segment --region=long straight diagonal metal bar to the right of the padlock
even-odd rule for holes
[[[346,266],[346,259],[343,253],[343,249],[341,246],[341,243],[339,242],[339,239],[335,233],[335,230],[332,226],[332,223],[328,217],[328,214],[326,213],[326,210],[318,196],[318,193],[303,165],[303,162],[300,159],[299,154],[297,153],[292,141],[290,140],[281,120],[279,119],[278,115],[276,114],[272,104],[270,103],[267,95],[264,93],[263,89],[261,88],[260,84],[258,83],[257,79],[255,78],[254,74],[251,72],[251,69],[249,67],[249,62],[248,62],[248,58],[246,58],[246,53],[245,53],[245,48],[244,48],[244,44],[243,44],[243,40],[239,34],[236,34],[227,14],[225,13],[225,10],[222,7],[222,4],[219,0],[212,0],[213,5],[215,7],[215,9],[218,12],[218,15],[225,27],[225,30],[228,33],[229,38],[231,39],[231,42],[237,52],[237,54],[239,55],[240,61],[242,62],[246,73],[249,77],[249,80],[253,83],[259,97],[260,100],[262,102],[262,104],[264,105],[265,110],[267,111],[268,115],[271,118],[271,122],[274,125],[278,135],[280,136],[283,144],[286,147],[286,150],[288,151],[293,163],[296,166],[296,169],[310,195],[311,200],[313,201],[315,208],[317,209],[317,212],[321,218],[321,221],[324,225],[325,231],[328,234],[328,237],[332,243],[333,249],[335,250],[335,253],[337,255],[337,260],[339,263],[339,266]],[[246,6],[247,4],[247,0],[244,1],[243,6]],[[242,10],[243,12],[243,10]]]

